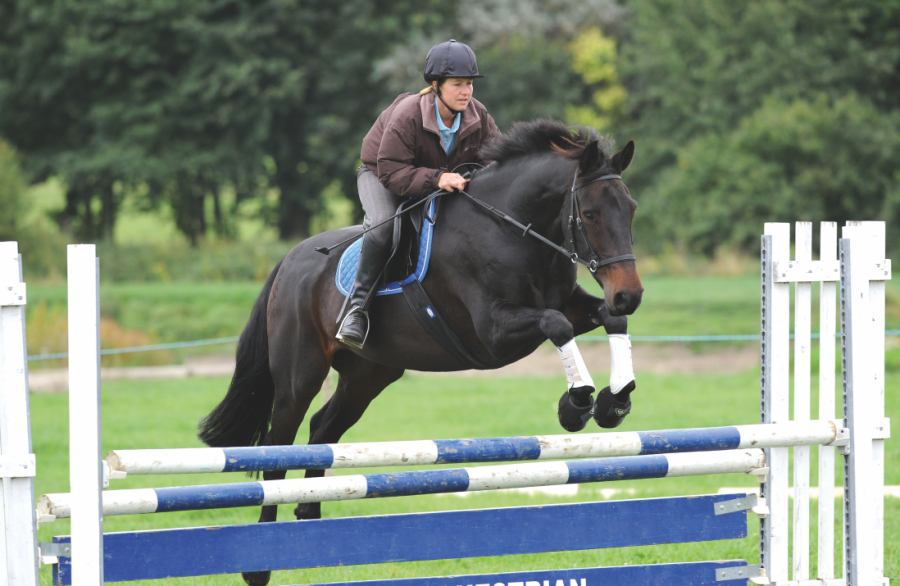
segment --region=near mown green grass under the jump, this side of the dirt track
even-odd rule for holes
[[[599,375],[602,377],[602,375]],[[641,375],[634,396],[634,412],[623,431],[673,427],[714,426],[758,421],[758,373],[738,375],[660,376]],[[531,379],[452,378],[407,375],[376,399],[363,419],[344,441],[387,441],[490,437],[560,433],[556,422],[556,400],[563,388],[562,376]],[[195,427],[223,396],[223,379],[184,379],[105,383],[103,392],[103,444],[112,448],[168,448],[199,446]],[[900,376],[887,377],[887,415],[900,416]],[[32,395],[31,412],[34,450],[38,457],[37,493],[64,492],[68,487],[68,406],[67,395]],[[814,406],[815,410],[815,406]],[[472,417],[473,413],[482,414]],[[594,431],[588,429],[586,431]],[[301,427],[298,443],[308,434]],[[888,442],[886,483],[900,484],[900,448]],[[382,469],[383,470],[383,469]],[[339,470],[338,474],[371,470]],[[291,473],[292,477],[300,473]],[[813,466],[813,484],[815,480]],[[113,488],[178,486],[185,484],[242,482],[246,476],[191,475],[129,477],[114,481]],[[621,483],[583,485],[576,497],[528,496],[508,493],[480,493],[467,498],[431,495],[397,499],[369,499],[326,503],[326,517],[404,513],[416,511],[485,508],[540,503],[574,502],[603,498],[604,488],[633,489],[639,498],[714,493],[722,486],[753,486],[755,480],[743,475],[673,478]],[[623,497],[615,497],[623,498]],[[633,497],[628,497],[633,498]],[[279,518],[293,518],[292,506],[282,506]],[[815,507],[812,507],[813,527]],[[254,522],[257,508],[159,515],[108,517],[106,531],[165,527],[203,526]],[[840,512],[836,514],[838,523]],[[276,572],[274,584],[304,584],[329,581],[382,579],[524,569],[552,569],[596,565],[665,563],[709,559],[755,560],[758,556],[758,527],[751,517],[750,536],[743,540],[589,550],[553,554],[473,558],[375,566],[322,568]],[[40,540],[64,535],[66,521],[43,525]],[[900,576],[900,499],[886,501],[886,575]],[[815,535],[812,536],[815,542]],[[839,543],[835,544],[840,560]],[[752,563],[752,562],[751,562]],[[814,566],[815,564],[813,564]],[[41,572],[42,584],[50,583],[49,568]],[[159,584],[159,582],[155,582]],[[236,576],[212,576],[168,580],[166,584],[237,584]]]

